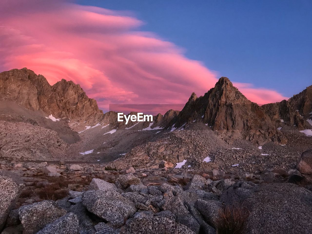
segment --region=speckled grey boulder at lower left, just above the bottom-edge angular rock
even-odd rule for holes
[[[24,227],[24,234],[33,234],[64,216],[66,210],[56,206],[55,202],[42,201],[22,206],[18,213]]]

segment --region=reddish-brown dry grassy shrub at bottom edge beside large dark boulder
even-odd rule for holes
[[[248,217],[249,210],[242,205],[223,206],[216,221],[217,233],[242,234]]]

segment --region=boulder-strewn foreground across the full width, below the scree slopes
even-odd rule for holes
[[[1,162],[1,233],[312,232],[312,151],[289,171],[195,173],[166,166],[117,171]],[[224,232],[229,228],[237,232]]]

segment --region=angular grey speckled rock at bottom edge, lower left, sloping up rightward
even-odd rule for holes
[[[77,234],[78,219],[74,213],[68,213],[56,221],[46,225],[36,234]]]

